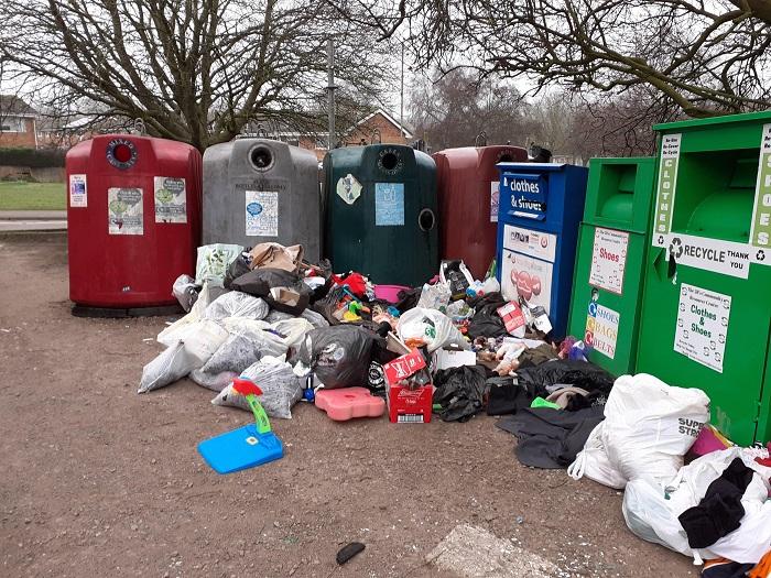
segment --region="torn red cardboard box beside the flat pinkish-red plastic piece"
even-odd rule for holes
[[[411,389],[408,384],[410,375],[423,368],[425,368],[425,359],[416,350],[383,366],[388,382],[386,401],[391,423],[427,424],[431,422],[434,386],[427,384]]]

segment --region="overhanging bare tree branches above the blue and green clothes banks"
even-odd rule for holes
[[[620,94],[651,87],[685,114],[769,106],[768,0],[328,0],[419,63]]]

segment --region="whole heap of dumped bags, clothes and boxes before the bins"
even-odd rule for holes
[[[278,418],[301,401],[336,421],[499,416],[522,464],[625,489],[639,537],[696,561],[758,564],[771,547],[769,450],[720,436],[701,390],[617,379],[583,341],[554,341],[543,307],[506,299],[493,271],[475,280],[443,261],[422,287],[399,287],[308,263],[300,246],[202,247],[195,277],[173,287],[188,313],[158,336],[165,350],[139,392],[188,377],[214,405],[250,411],[240,379]]]

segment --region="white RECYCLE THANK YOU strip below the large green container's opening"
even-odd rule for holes
[[[752,249],[746,243],[708,239],[693,235],[670,233],[666,259],[673,257],[680,265],[747,279],[750,274]]]

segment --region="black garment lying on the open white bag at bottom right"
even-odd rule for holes
[[[698,505],[688,508],[677,520],[688,535],[688,546],[706,548],[739,527],[745,516],[741,498],[752,481],[752,470],[736,458],[707,488]]]

